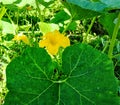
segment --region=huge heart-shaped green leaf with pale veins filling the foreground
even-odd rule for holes
[[[105,54],[75,44],[64,50],[61,70],[53,64],[42,48],[14,59],[7,66],[4,105],[119,105],[113,63]]]

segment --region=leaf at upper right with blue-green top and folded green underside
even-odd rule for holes
[[[66,0],[63,4],[73,19],[91,18],[108,10],[120,9],[120,0]]]

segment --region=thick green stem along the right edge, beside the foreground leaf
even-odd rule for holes
[[[109,50],[108,50],[108,57],[109,58],[112,58],[112,56],[113,56],[113,48],[114,48],[114,45],[115,45],[115,41],[116,41],[116,37],[117,37],[117,34],[118,34],[119,26],[120,26],[120,13],[118,14],[118,21],[117,21],[117,23],[114,27],[112,39],[110,41],[110,46],[109,46]]]

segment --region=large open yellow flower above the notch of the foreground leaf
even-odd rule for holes
[[[70,45],[69,38],[57,30],[46,33],[42,38],[43,39],[39,42],[39,46],[45,47],[52,55],[56,55],[60,47],[65,48]]]

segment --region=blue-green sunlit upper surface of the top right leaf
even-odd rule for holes
[[[66,0],[69,3],[80,6],[81,8],[103,12],[106,9],[120,9],[120,0]]]

